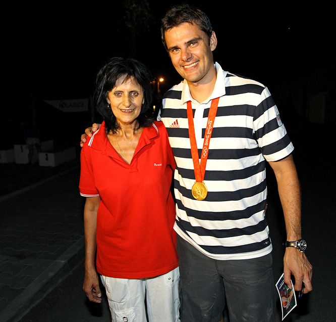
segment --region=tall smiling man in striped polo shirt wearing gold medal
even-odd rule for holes
[[[294,147],[268,89],[214,64],[217,38],[201,10],[172,7],[161,37],[184,78],[163,96],[158,116],[177,163],[181,320],[219,321],[226,304],[231,322],[274,321],[266,161],[277,180],[287,246],[293,246],[285,252],[285,283],[293,274],[295,290],[303,283],[304,293],[312,290]]]

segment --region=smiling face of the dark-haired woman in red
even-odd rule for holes
[[[134,77],[124,80],[125,76],[120,77],[115,87],[107,92],[108,103],[119,125],[131,125],[141,112],[144,96]]]

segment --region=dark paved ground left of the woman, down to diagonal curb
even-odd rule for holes
[[[83,198],[78,193],[78,160],[54,168],[0,164],[0,169],[4,322],[26,313],[82,260]]]

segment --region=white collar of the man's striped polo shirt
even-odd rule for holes
[[[227,72],[223,71],[222,68],[220,67],[220,65],[217,62],[215,62],[214,67],[215,67],[216,72],[217,72],[216,83],[215,83],[215,86],[213,88],[213,91],[212,91],[212,94],[210,95],[210,97],[208,97],[206,100],[201,102],[201,103],[204,103],[204,104],[207,104],[210,100],[215,99],[217,97],[224,96],[226,94],[226,91],[225,91],[225,77],[226,77]],[[191,97],[188,83],[184,79],[183,80],[183,86],[182,86],[181,103],[185,104],[188,101],[195,102],[195,100]]]

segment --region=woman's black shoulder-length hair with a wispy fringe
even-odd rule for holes
[[[106,132],[110,130],[116,132],[119,128],[117,119],[107,104],[107,92],[115,87],[117,80],[121,77],[125,77],[124,82],[134,77],[135,81],[142,87],[144,103],[141,106],[141,111],[137,118],[139,127],[149,126],[153,122],[153,120],[146,115],[152,103],[152,75],[150,71],[144,64],[135,59],[113,57],[98,71],[93,95],[95,107],[105,121]]]

